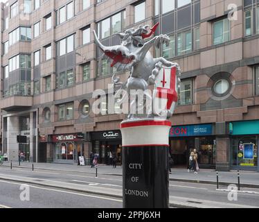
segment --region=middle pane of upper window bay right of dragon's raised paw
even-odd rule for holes
[[[192,51],[192,33],[187,31],[179,33],[177,37],[177,52],[178,56],[190,53]]]

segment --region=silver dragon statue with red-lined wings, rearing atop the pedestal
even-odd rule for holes
[[[111,67],[115,67],[118,72],[130,71],[130,77],[127,79],[126,83],[121,83],[120,78],[116,77],[116,74],[114,74],[112,78],[114,85],[119,85],[121,89],[125,89],[128,95],[131,90],[140,89],[148,99],[154,99],[155,94],[151,96],[149,93],[145,92],[148,92],[149,85],[154,85],[154,89],[159,88],[159,85],[157,85],[157,83],[160,83],[160,81],[157,82],[158,78],[161,78],[161,83],[163,83],[163,87],[165,87],[165,83],[167,82],[163,69],[171,69],[173,67],[176,70],[175,81],[173,85],[171,85],[173,88],[171,90],[177,91],[179,84],[181,83],[179,78],[181,71],[177,63],[169,62],[163,57],[153,58],[150,53],[152,46],[157,47],[157,49],[163,44],[169,46],[170,38],[167,35],[159,35],[153,37],[148,42],[145,42],[145,39],[154,35],[158,26],[159,24],[154,25],[152,28],[150,28],[150,26],[139,26],[137,29],[130,28],[124,33],[118,33],[117,35],[120,37],[122,43],[117,46],[104,46],[100,40],[98,40],[96,32],[93,31],[94,41],[104,53],[104,56],[108,58],[108,61],[111,62]],[[169,91],[170,90],[168,89],[167,92]],[[175,92],[173,97],[174,99],[171,99],[171,101],[174,100],[173,105],[167,105],[167,108],[163,110],[163,115],[166,115],[166,118],[168,119],[172,117],[175,110],[177,92]],[[161,96],[161,98],[163,98],[163,96]],[[132,101],[130,105],[131,107],[136,106],[136,100]],[[161,115],[161,112],[149,113],[148,117],[159,116]],[[130,114],[128,119],[134,119],[134,114]]]

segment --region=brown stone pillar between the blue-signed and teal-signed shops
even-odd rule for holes
[[[229,171],[230,170],[230,139],[229,137],[217,137],[216,138],[216,169],[218,171]]]

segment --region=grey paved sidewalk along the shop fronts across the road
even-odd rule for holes
[[[12,166],[17,168],[18,163],[13,162]],[[10,163],[6,162],[0,167],[10,167]],[[31,169],[32,163],[21,162],[20,168]],[[96,169],[89,166],[78,166],[77,164],[46,164],[34,163],[34,169],[51,170],[51,171],[66,171],[74,173],[96,173]],[[122,176],[122,167],[113,169],[112,166],[99,165],[98,174]],[[201,170],[197,175],[188,173],[186,169],[172,169],[170,174],[171,181],[179,182],[198,182],[205,184],[216,185],[216,172],[215,170]],[[238,183],[237,171],[219,172],[220,185],[228,186]],[[259,173],[253,171],[240,171],[240,185],[241,187],[259,188]]]

